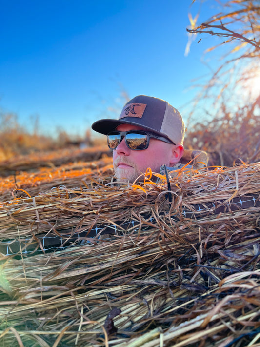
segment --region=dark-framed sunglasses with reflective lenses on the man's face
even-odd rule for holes
[[[110,149],[116,149],[124,137],[128,148],[134,150],[146,149],[149,146],[150,138],[158,139],[163,142],[173,143],[171,140],[142,130],[112,131],[107,135],[107,144]]]

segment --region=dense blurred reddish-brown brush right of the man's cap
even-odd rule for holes
[[[260,105],[260,98],[258,99]],[[189,127],[185,148],[196,148],[209,154],[209,165],[233,166],[238,159],[245,163],[260,161],[259,108],[255,105],[239,108],[235,114],[228,112],[225,103],[216,109],[217,116],[204,117]],[[219,114],[221,116],[219,116]],[[202,117],[202,116],[201,116]]]

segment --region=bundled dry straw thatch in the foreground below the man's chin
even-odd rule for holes
[[[258,346],[260,163],[182,170],[171,203],[165,177],[115,186],[105,174],[1,204],[2,242],[119,233],[3,255],[0,346]]]

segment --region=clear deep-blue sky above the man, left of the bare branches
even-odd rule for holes
[[[84,133],[123,106],[121,91],[159,97],[178,108],[211,46],[199,38],[188,56],[188,13],[219,12],[214,0],[0,0],[0,108],[30,128]]]

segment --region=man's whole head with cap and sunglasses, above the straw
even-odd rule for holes
[[[120,181],[134,182],[148,167],[159,172],[161,165],[173,166],[183,154],[181,115],[161,99],[139,95],[126,103],[119,119],[94,122],[92,129],[108,135]]]

